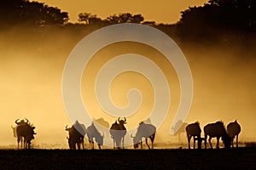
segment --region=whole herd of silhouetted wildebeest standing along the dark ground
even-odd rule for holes
[[[17,138],[18,149],[30,149],[31,141],[34,139],[35,127],[26,118],[24,120],[17,119],[15,121],[16,126],[12,127],[14,136]],[[125,128],[126,118],[121,119],[120,117],[113,122],[112,126],[109,128],[109,133],[113,139],[113,148],[121,149],[125,148]],[[72,127],[66,126],[65,130],[68,132],[67,142],[71,150],[84,149],[84,136],[87,135],[89,140],[89,148],[94,149],[94,143],[98,144],[98,148],[102,148],[104,134],[101,133],[92,122],[89,127],[85,127],[84,124],[78,121],[73,124]],[[201,137],[201,127],[199,122],[194,122],[186,125],[185,131],[187,133],[188,144],[190,149],[190,139],[194,139],[194,149],[195,143],[197,142],[197,148],[201,149],[201,143],[204,141],[205,148],[207,148],[207,139],[210,147],[212,148],[212,138],[217,139],[216,148],[219,148],[219,139],[223,140],[224,148],[230,148],[230,145],[234,147],[234,139],[236,138],[236,147],[238,147],[238,135],[241,132],[241,126],[237,121],[230,122],[227,127],[224,127],[224,122],[214,122],[207,124],[204,128],[205,137]],[[134,148],[137,149],[139,144],[143,148],[143,138],[148,146],[148,149],[154,149],[154,137],[156,133],[156,127],[154,125],[140,122],[137,127],[137,133],[132,136]],[[148,139],[151,140],[151,148],[148,145]]]

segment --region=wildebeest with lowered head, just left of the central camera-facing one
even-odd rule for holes
[[[104,136],[96,129],[94,123],[92,122],[90,127],[87,127],[87,136],[89,139],[89,146],[94,149],[94,139],[101,150],[101,145],[103,144]]]

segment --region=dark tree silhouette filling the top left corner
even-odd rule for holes
[[[44,3],[27,0],[3,0],[0,6],[1,26],[63,25],[68,20],[67,12],[49,7]]]

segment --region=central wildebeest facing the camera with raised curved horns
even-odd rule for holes
[[[114,145],[116,144],[116,147],[120,149],[121,143],[123,148],[125,147],[126,118],[124,117],[124,120],[122,120],[119,117],[118,122],[116,121],[112,124],[109,130],[109,133],[111,134],[111,138],[113,139],[113,148],[114,148]]]

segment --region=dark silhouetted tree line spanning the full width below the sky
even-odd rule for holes
[[[112,14],[102,20],[96,14],[80,13],[79,24],[68,23],[67,12],[44,3],[27,0],[3,0],[0,6],[0,28],[10,26],[67,26],[90,31],[119,23],[137,23],[154,26],[172,37],[201,42],[230,41],[230,38],[247,39],[256,35],[255,0],[209,0],[203,6],[189,7],[181,12],[181,19],[173,25],[144,21],[142,14]]]

